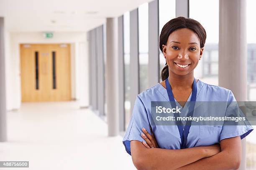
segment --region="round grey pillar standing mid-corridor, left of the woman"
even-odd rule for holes
[[[108,136],[118,135],[118,20],[107,18],[106,23],[106,102]]]

